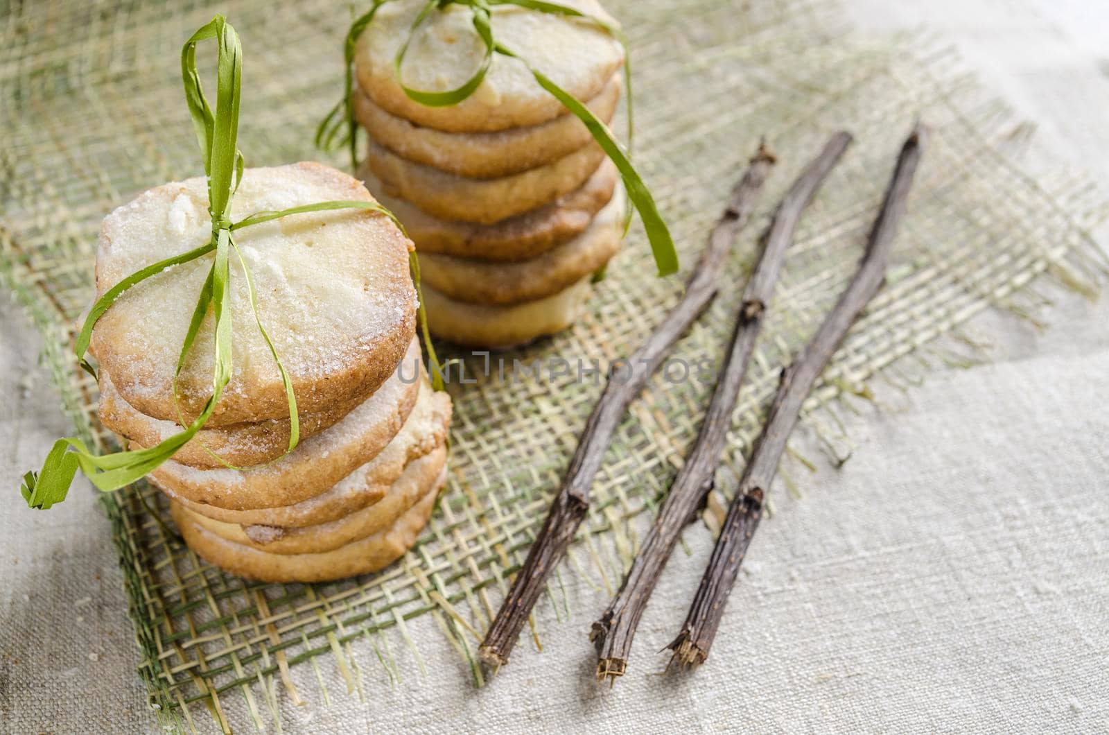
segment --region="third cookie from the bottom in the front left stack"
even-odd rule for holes
[[[292,505],[236,511],[194,503],[165,487],[162,491],[190,511],[227,524],[292,528],[329,523],[380,501],[410,462],[444,446],[450,409],[445,392],[420,391],[408,421],[377,456],[326,492]]]

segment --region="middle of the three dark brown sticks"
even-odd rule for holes
[[[801,213],[813,200],[828,172],[851,143],[851,135],[836,133],[801,173],[774,213],[759,265],[743,292],[743,304],[732,333],[732,343],[723,372],[716,382],[704,423],[685,464],[667,496],[651,532],[632,562],[620,592],[599,621],[590,638],[597,646],[597,678],[615,678],[624,673],[635,627],[659,574],[674,548],[678,535],[693,517],[698,505],[712,489],[712,477],[720,464],[732,411],[743,382],[743,373],[762,326],[766,304],[782,270],[785,251],[793,241]]]

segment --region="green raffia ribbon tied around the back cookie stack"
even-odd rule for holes
[[[358,169],[358,147],[356,134],[358,123],[354,117],[354,101],[352,99],[352,94],[354,93],[355,48],[358,43],[358,38],[373,22],[378,9],[385,3],[391,1],[393,0],[374,0],[374,4],[370,9],[356,18],[354,23],[350,26],[350,30],[347,32],[346,41],[343,47],[344,60],[346,63],[346,79],[343,99],[339,100],[334,108],[332,108],[323,121],[321,121],[319,127],[316,130],[317,147],[324,150],[333,150],[343,145],[348,148],[353,170]],[[429,92],[425,90],[411,89],[401,81],[400,74],[405,54],[408,52],[408,46],[411,43],[416,30],[427,20],[427,18],[434,11],[441,10],[449,4],[465,6],[470,9],[472,13],[474,31],[477,33],[478,39],[485,48],[481,62],[478,64],[477,70],[469,79],[467,79],[460,87],[452,90],[444,92]],[[625,152],[620,143],[617,142],[608,125],[606,125],[600,118],[593,114],[593,112],[580,100],[563,90],[561,87],[556,84],[553,80],[528,63],[527,59],[517,53],[515,50],[508,49],[497,42],[492,28],[492,8],[495,6],[517,6],[519,8],[535,10],[537,12],[579,19],[597,26],[598,28],[610,33],[620,42],[624,52],[624,87],[628,90],[628,152]],[[670,236],[670,230],[667,228],[667,223],[662,220],[662,215],[659,214],[659,208],[654,203],[654,198],[651,197],[650,190],[647,188],[647,184],[643,183],[639,173],[635,172],[635,169],[632,167],[630,160],[629,152],[631,150],[632,131],[634,127],[632,118],[631,62],[628,51],[628,40],[624,38],[623,31],[620,30],[620,27],[604,20],[603,18],[591,16],[577,10],[576,8],[570,8],[558,2],[547,2],[545,0],[427,0],[427,3],[423,7],[423,9],[420,9],[409,28],[408,38],[405,39],[404,43],[401,43],[400,48],[397,50],[397,54],[393,60],[394,74],[396,75],[397,83],[400,84],[400,88],[409,99],[427,107],[450,107],[452,104],[458,104],[462,100],[470,97],[481,85],[486,73],[489,71],[489,67],[492,64],[492,57],[495,53],[518,59],[522,62],[540,87],[547,90],[559,102],[561,102],[567,110],[584,123],[590,134],[592,134],[593,139],[598,142],[598,144],[600,144],[600,147],[604,150],[604,153],[612,160],[613,163],[615,163],[617,169],[620,171],[620,177],[623,179],[628,199],[631,201],[632,205],[639,212],[640,219],[643,221],[643,229],[647,231],[647,239],[651,244],[651,252],[654,255],[654,264],[659,269],[659,275],[670,275],[671,273],[675,273],[678,271],[678,252],[674,250],[674,241]],[[629,211],[629,218],[631,212]],[[625,222],[625,231],[627,224],[628,223]]]

